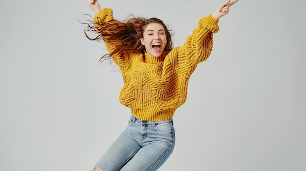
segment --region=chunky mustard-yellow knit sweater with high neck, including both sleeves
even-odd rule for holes
[[[112,10],[104,8],[93,20],[112,20]],[[120,67],[124,86],[120,102],[131,108],[131,114],[149,121],[167,120],[187,97],[187,85],[197,64],[206,60],[213,47],[213,33],[219,31],[219,19],[211,15],[198,21],[182,47],[163,52],[160,57],[145,53],[123,53],[112,59]],[[105,42],[109,52],[115,43]]]

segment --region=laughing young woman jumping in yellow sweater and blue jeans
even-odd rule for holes
[[[88,0],[96,12],[87,31],[97,34],[90,40],[103,40],[111,59],[120,67],[124,86],[120,102],[131,108],[126,130],[113,142],[93,171],[156,171],[175,146],[172,117],[186,101],[187,85],[199,62],[212,51],[213,33],[219,18],[238,0],[221,4],[198,21],[182,47],[172,48],[172,39],[160,19],[115,20],[112,10]]]

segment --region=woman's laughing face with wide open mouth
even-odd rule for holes
[[[167,44],[167,36],[164,27],[159,23],[146,25],[141,44],[145,46],[146,52],[152,57],[159,57]]]

